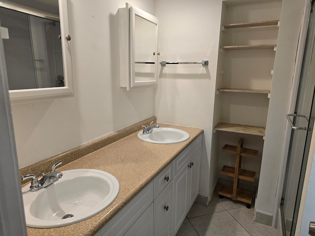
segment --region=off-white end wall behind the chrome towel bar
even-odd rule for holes
[[[210,158],[212,120],[221,22],[221,0],[156,0],[159,19],[158,60],[201,61],[209,66],[158,66],[158,122],[204,129],[200,194],[209,196],[217,181]]]

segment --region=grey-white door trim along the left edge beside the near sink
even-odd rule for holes
[[[27,236],[8,89],[0,40],[0,235]]]

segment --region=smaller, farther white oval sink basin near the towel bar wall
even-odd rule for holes
[[[154,128],[151,134],[138,133],[138,138],[153,144],[176,144],[189,139],[189,133],[174,128]]]

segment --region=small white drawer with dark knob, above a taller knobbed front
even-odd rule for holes
[[[174,164],[171,162],[161,173],[154,179],[154,198],[167,186],[174,177]]]

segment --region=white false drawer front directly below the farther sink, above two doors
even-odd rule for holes
[[[189,160],[199,148],[201,148],[201,135],[176,157],[174,160],[174,172],[178,173],[181,169],[188,168]]]

